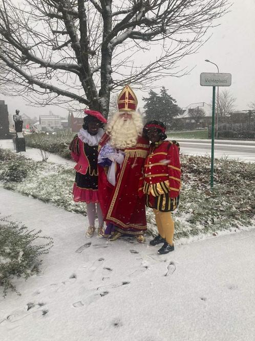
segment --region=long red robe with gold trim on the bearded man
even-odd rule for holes
[[[104,135],[99,148],[109,140]],[[116,231],[124,234],[139,235],[146,230],[145,199],[139,198],[139,180],[149,148],[148,140],[138,137],[135,147],[124,150],[124,161],[117,169],[115,186],[107,180],[107,173],[98,166],[99,202],[107,222],[113,223]]]

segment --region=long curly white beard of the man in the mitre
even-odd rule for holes
[[[126,121],[117,113],[111,123],[107,127],[107,133],[110,135],[110,145],[114,148],[125,149],[134,147],[137,143],[138,136],[142,131],[142,119],[139,114]],[[139,115],[139,116],[138,116]]]

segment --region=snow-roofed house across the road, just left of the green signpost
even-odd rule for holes
[[[201,115],[201,117],[196,120],[191,116],[192,110],[190,109],[202,110],[204,112],[204,116]],[[175,127],[177,129],[207,128],[211,123],[211,116],[212,107],[210,104],[205,102],[192,103],[186,108],[182,108],[180,115],[174,118]]]

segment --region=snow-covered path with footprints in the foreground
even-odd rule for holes
[[[0,298],[2,341],[254,339],[255,230],[159,256],[132,238],[85,238],[86,217],[3,188],[0,207],[54,239],[41,273],[16,280],[22,296]]]

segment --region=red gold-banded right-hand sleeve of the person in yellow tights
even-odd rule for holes
[[[171,146],[169,147],[167,153],[170,198],[176,198],[180,194],[181,166],[179,150],[179,143],[176,141],[171,141]]]

